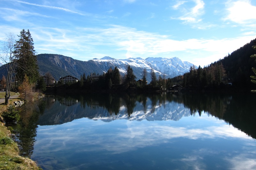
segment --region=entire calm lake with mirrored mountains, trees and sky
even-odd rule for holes
[[[43,169],[256,169],[256,94],[86,93],[26,104],[21,155]]]

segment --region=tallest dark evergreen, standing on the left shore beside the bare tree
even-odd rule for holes
[[[29,30],[25,31],[24,29],[20,31],[18,37],[20,39],[14,45],[14,55],[18,58],[16,80],[21,83],[27,75],[30,83],[36,83],[39,73],[33,39]]]

